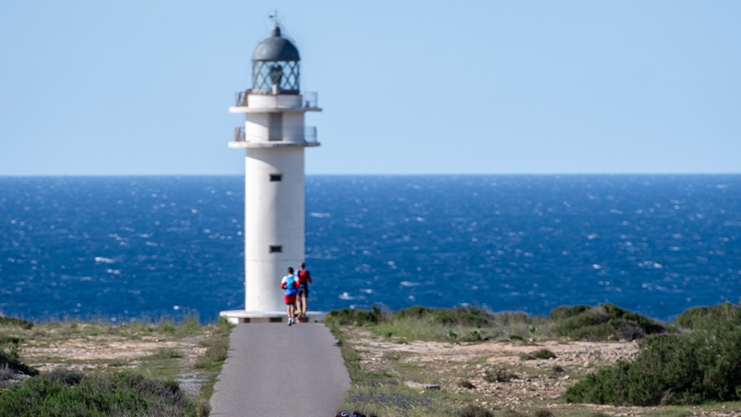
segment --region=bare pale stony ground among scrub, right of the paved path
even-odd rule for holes
[[[416,364],[433,370],[425,373],[430,378],[426,386],[456,393],[475,393],[476,401],[492,410],[523,410],[548,408],[556,416],[568,416],[569,407],[559,398],[568,387],[576,383],[576,377],[597,368],[614,364],[620,359],[629,360],[638,352],[634,341],[619,342],[569,342],[557,341],[501,341],[475,344],[441,343],[431,341],[399,341],[373,338],[370,332],[359,328],[350,330],[353,343],[361,351],[363,369],[389,372],[393,361]],[[540,349],[548,349],[555,357],[534,358]],[[498,372],[497,372],[498,370]],[[393,370],[391,371],[393,372]],[[499,375],[501,381],[497,381]],[[585,404],[605,416],[655,416],[659,407],[613,407]],[[690,407],[684,416],[741,416],[741,410],[703,410]],[[562,410],[561,413],[558,410]],[[564,414],[567,413],[567,414]]]

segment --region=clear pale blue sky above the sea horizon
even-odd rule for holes
[[[243,173],[275,9],[308,174],[741,172],[741,1],[0,0],[0,175]]]

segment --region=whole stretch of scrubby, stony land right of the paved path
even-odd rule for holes
[[[741,415],[730,303],[671,323],[609,303],[548,316],[374,306],[325,323],[353,381],[342,410],[368,416]]]

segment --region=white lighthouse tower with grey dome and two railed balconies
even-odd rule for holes
[[[285,319],[280,279],[304,260],[304,149],[319,146],[304,115],[322,109],[301,91],[300,60],[276,21],[252,55],[252,88],[229,108],[245,114],[229,147],[246,149],[245,310],[221,313],[233,323]]]

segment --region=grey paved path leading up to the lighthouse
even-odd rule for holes
[[[350,389],[335,342],[321,323],[238,324],[210,416],[333,417]]]

